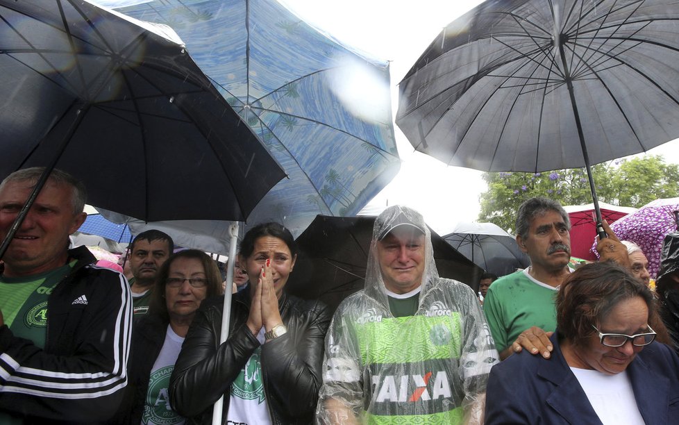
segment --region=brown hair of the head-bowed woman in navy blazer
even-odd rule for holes
[[[556,328],[573,344],[584,343],[597,326],[622,301],[641,297],[648,317],[655,314],[653,294],[627,269],[605,261],[583,265],[569,274],[556,298]]]

